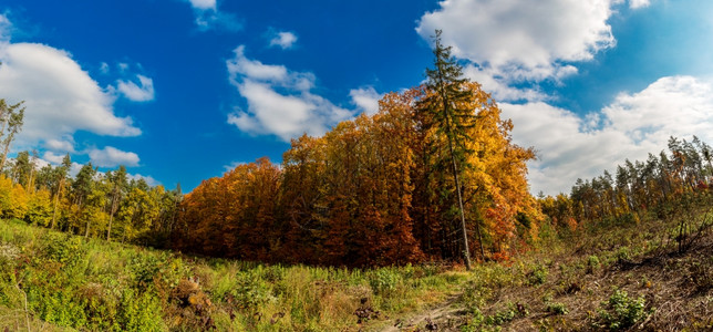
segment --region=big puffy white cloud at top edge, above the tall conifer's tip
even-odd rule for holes
[[[591,60],[616,40],[607,20],[619,0],[445,0],[416,31],[431,40],[443,30],[453,54],[480,65],[497,83],[542,81],[576,72],[568,62]]]

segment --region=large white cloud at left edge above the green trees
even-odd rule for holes
[[[99,135],[137,136],[130,117],[114,115],[114,96],[71,55],[43,44],[0,45],[0,91],[9,103],[25,101],[19,146],[68,141],[76,131]]]

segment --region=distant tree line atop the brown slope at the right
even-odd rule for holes
[[[591,180],[577,179],[569,196],[539,197],[542,212],[560,226],[601,219],[627,219],[638,222],[641,214],[655,209],[666,217],[666,209],[684,197],[707,193],[713,180],[713,148],[696,136],[692,141],[670,137],[666,151],[649,154],[645,160],[604,170]]]

